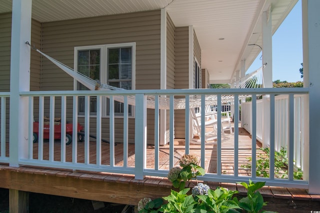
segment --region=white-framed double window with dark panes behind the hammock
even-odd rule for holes
[[[134,89],[135,43],[84,46],[74,48],[76,70],[102,84]],[[87,90],[75,81],[76,90]],[[132,116],[132,106],[128,108]],[[78,114],[84,114],[84,97],[78,99]],[[90,115],[96,115],[96,97],[90,97]],[[109,115],[109,99],[102,101],[102,116]],[[114,115],[123,115],[123,103],[114,102]]]

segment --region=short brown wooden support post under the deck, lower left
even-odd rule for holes
[[[29,193],[19,190],[9,190],[9,211],[10,213],[29,212]]]

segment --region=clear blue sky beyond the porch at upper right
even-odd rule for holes
[[[258,54],[246,73],[258,69],[262,61]],[[303,81],[299,69],[302,63],[302,18],[301,0],[272,36],[272,81]]]

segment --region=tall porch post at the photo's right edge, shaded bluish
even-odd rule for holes
[[[320,111],[318,107],[320,92],[320,1],[302,0],[302,43],[303,43],[303,86],[309,87],[308,103],[305,100],[304,107],[308,107],[309,123],[304,126],[305,135],[309,135],[309,140],[304,140],[308,150],[309,165],[305,165],[303,174],[309,180],[309,193],[320,194]],[[307,122],[304,122],[307,123]],[[304,138],[304,139],[307,139]],[[307,144],[309,143],[309,144]],[[309,147],[307,147],[309,146]],[[307,177],[308,173],[308,177]]]

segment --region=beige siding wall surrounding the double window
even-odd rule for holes
[[[135,42],[135,89],[160,88],[160,10],[42,24],[42,51],[73,67],[76,46]],[[73,90],[73,79],[46,59],[42,61],[42,90]],[[59,102],[56,101],[56,106]],[[48,107],[46,107],[47,111]],[[72,101],[67,114],[72,112]],[[58,114],[56,115],[58,116]],[[152,118],[152,119],[151,119]],[[148,137],[153,142],[154,112],[148,110]],[[123,141],[122,118],[115,119],[116,142]],[[79,119],[81,122],[81,118]],[[108,138],[108,118],[102,119],[102,137]],[[95,135],[95,121],[90,120]],[[129,142],[134,139],[134,119],[129,119]]]

